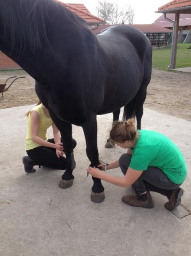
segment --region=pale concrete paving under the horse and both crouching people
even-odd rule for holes
[[[191,256],[191,215],[177,218],[152,193],[155,207],[133,208],[121,202],[132,189],[103,182],[105,201],[92,203],[92,180],[82,128],[74,126],[77,168],[69,189],[58,187],[60,170],[23,171],[24,138],[31,106],[0,110],[0,255],[1,256]],[[113,161],[123,149],[105,149],[111,115],[99,116],[100,159]],[[182,150],[188,177],[182,203],[191,210],[191,122],[145,109],[142,128],[169,136]],[[50,134],[51,135],[51,134]],[[113,175],[121,175],[117,170]]]

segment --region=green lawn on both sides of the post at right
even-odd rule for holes
[[[176,54],[176,69],[191,67],[191,49],[187,49],[191,43],[178,44]],[[171,47],[152,50],[152,67],[154,69],[169,70]]]

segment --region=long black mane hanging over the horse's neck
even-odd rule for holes
[[[54,0],[0,0],[1,36],[11,42],[11,50],[22,53],[27,48],[31,53],[48,43],[47,21],[49,14],[55,19],[88,28],[85,21]]]

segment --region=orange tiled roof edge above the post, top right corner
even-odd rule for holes
[[[158,8],[159,12],[173,12],[175,10],[180,10],[181,13],[191,13],[191,0],[172,0]]]

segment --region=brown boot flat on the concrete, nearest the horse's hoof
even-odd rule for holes
[[[147,200],[140,201],[138,195],[124,195],[121,199],[124,203],[135,207],[152,208],[154,203],[152,201],[151,194],[147,191]]]

